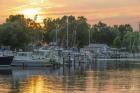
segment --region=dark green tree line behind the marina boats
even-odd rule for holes
[[[68,31],[68,32],[67,32]],[[43,26],[24,15],[10,15],[0,25],[0,45],[11,46],[12,49],[28,49],[57,42],[59,46],[81,48],[90,43],[103,43],[111,47],[125,47],[136,51],[139,33],[130,24],[109,26],[99,21],[90,25],[84,16],[63,16],[61,18],[45,18]]]

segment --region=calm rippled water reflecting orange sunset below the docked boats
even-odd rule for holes
[[[140,93],[140,65],[93,62],[63,68],[1,68],[0,93]]]

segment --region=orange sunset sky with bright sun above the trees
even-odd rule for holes
[[[38,22],[46,17],[85,16],[90,24],[131,24],[138,30],[140,0],[0,0],[0,23],[9,15],[24,14]]]

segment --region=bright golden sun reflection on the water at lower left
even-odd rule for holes
[[[54,80],[45,76],[33,76],[24,81],[20,93],[63,93],[62,86],[55,86]],[[26,83],[25,83],[26,82]],[[56,91],[56,89],[58,89]]]

